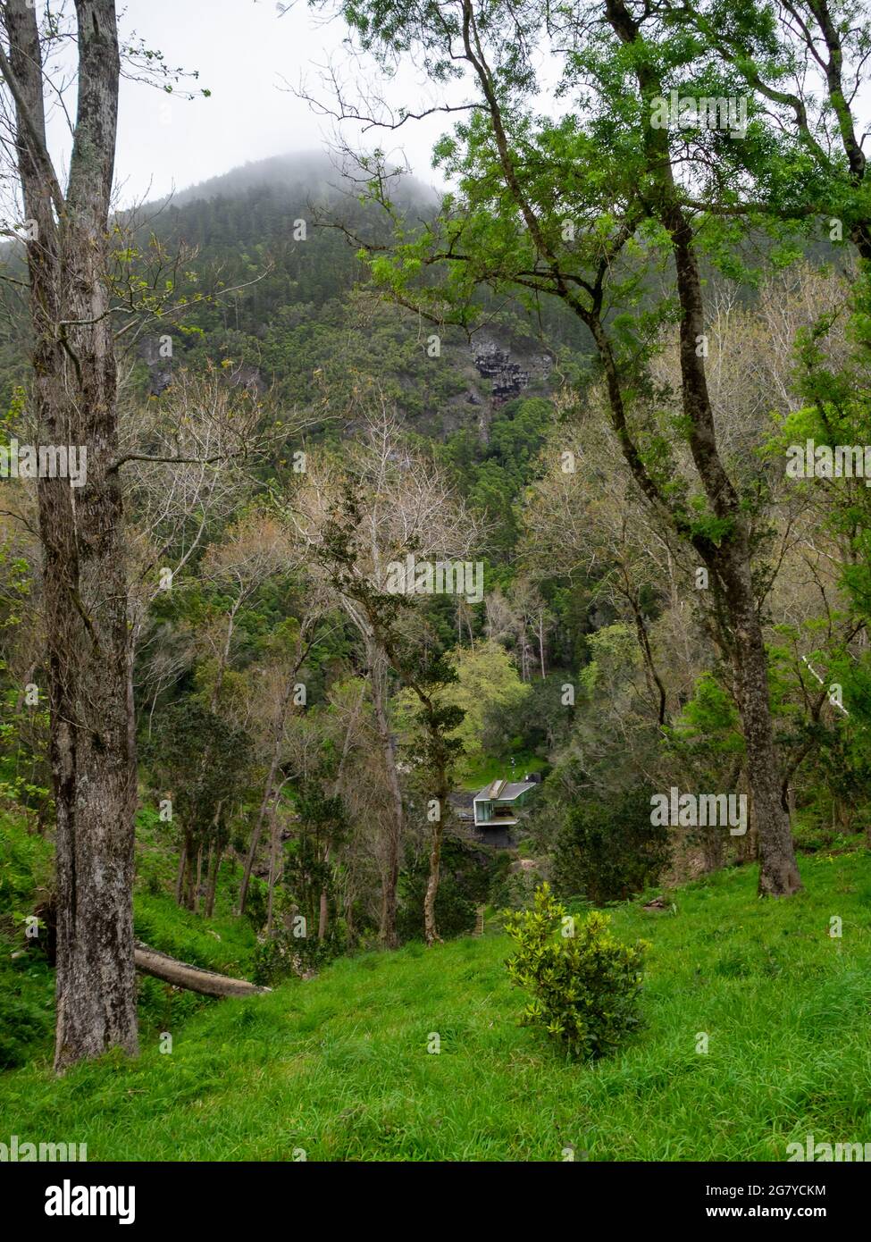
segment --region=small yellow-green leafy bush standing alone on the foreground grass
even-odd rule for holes
[[[534,997],[522,1025],[543,1026],[583,1061],[613,1052],[640,1023],[647,944],[620,944],[609,924],[610,915],[599,910],[583,919],[569,917],[548,884],[537,889],[534,909],[509,914],[504,922],[518,948],[506,963],[508,972]]]

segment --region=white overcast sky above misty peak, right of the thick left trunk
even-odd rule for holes
[[[122,37],[135,31],[163,51],[168,63],[198,70],[195,86],[211,91],[210,98],[189,103],[123,83],[117,156],[122,202],[181,190],[249,160],[328,143],[332,122],[282,89],[282,79],[298,86],[303,76],[312,93],[327,97],[318,89],[317,66],[332,60],[348,72],[340,20],[326,24],[304,0],[283,16],[273,0],[129,0],[125,9],[118,7]],[[419,104],[422,93],[414,71],[391,88],[398,103]],[[388,150],[401,144],[415,173],[435,184],[430,150],[446,120],[409,123],[393,135],[373,133],[368,143],[386,142]],[[354,130],[347,137],[353,139]]]

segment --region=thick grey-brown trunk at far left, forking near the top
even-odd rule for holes
[[[27,0],[4,7],[2,76],[35,226],[27,266],[37,437],[75,446],[84,473],[75,492],[62,477],[37,487],[57,810],[55,1067],[63,1071],[111,1047],[137,1051],[135,755],[107,282],[119,52],[113,0],[76,0],[78,103],[63,197],[46,147],[36,12]]]

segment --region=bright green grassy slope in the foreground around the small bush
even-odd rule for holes
[[[88,1158],[783,1160],[871,1139],[871,857],[803,861],[806,891],[759,902],[755,868],[625,905],[652,941],[647,1030],[567,1064],[518,1028],[504,938],[342,960],[318,980],[191,1017],[171,1054],[109,1057],[60,1083],[0,1079],[0,1134],[87,1141]],[[829,919],[844,920],[842,939]],[[441,1053],[426,1051],[430,1032]],[[709,1053],[696,1052],[697,1032]]]

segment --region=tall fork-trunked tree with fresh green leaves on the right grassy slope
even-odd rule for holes
[[[462,104],[468,119],[437,147],[457,189],[436,221],[414,230],[400,224],[389,253],[380,246],[368,252],[374,277],[432,322],[465,327],[475,322],[481,284],[526,297],[531,309],[555,298],[579,322],[584,342],[591,339],[635,486],[721,591],[759,825],[759,889],[795,892],[800,878],[780,802],[754,587],[753,498],[726,468],[707,384],[703,205],[680,179],[680,133],[655,123],[671,66],[681,63],[682,32],[651,29],[650,7],[624,0],[557,14],[534,2],[514,10],[476,0],[411,10],[348,4],[343,12],[362,45],[385,61],[415,48],[435,81],[465,72],[472,87]],[[560,93],[574,102],[557,119],[536,112],[537,32],[554,36]],[[706,94],[729,93],[719,79],[711,84]],[[380,123],[365,104],[357,114]],[[708,139],[709,161],[726,161],[724,144],[728,137]],[[383,178],[374,197],[385,201]],[[728,250],[722,231],[713,236]],[[660,293],[661,263],[673,283]],[[434,278],[439,273],[444,279]],[[680,390],[670,394],[655,386],[649,364],[675,323]],[[673,461],[675,427],[688,448],[688,473]]]

